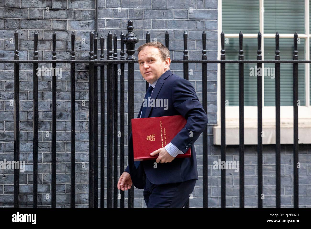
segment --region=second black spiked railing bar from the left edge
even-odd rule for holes
[[[34,60],[38,60],[38,32],[34,34]],[[33,208],[38,205],[38,63],[33,64],[33,85],[34,85],[34,120],[33,120]]]

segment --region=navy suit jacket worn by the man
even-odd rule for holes
[[[152,184],[169,184],[190,179],[198,180],[197,158],[193,144],[207,126],[208,120],[192,84],[167,70],[158,79],[151,98],[168,99],[168,109],[165,110],[165,107],[147,107],[145,117],[182,115],[186,118],[186,125],[171,142],[183,153],[187,152],[188,147],[190,147],[191,157],[175,158],[167,163],[144,160],[140,161],[138,168],[136,168],[133,159],[131,132],[128,136],[128,166],[125,171],[131,174],[134,186],[139,189],[143,189],[146,183],[144,172]],[[141,112],[142,106],[137,118],[140,117]]]

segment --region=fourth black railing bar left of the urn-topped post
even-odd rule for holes
[[[104,60],[104,37],[100,36],[100,60]],[[100,66],[100,208],[105,207],[105,66]]]

